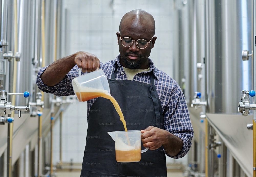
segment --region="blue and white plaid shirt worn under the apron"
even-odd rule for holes
[[[108,79],[111,78],[112,70],[115,68],[118,71],[116,74],[116,79],[127,80],[127,75],[125,74],[122,65],[120,65],[119,63],[119,58],[120,55],[118,55],[115,60],[106,62],[105,64],[100,63],[100,68],[104,71]],[[191,147],[191,139],[193,137],[193,129],[191,126],[184,95],[180,86],[175,80],[173,80],[163,71],[157,69],[151,59],[149,59],[149,63],[150,70],[147,72],[141,72],[136,74],[133,80],[150,84],[150,74],[147,73],[153,71],[155,75],[155,87],[162,107],[164,128],[175,136],[178,136],[183,141],[182,152],[179,153],[177,156],[170,157],[184,157]],[[65,76],[65,78],[60,83],[52,87],[44,85],[40,78],[41,74],[46,68],[47,67],[41,68],[38,71],[36,84],[40,90],[57,96],[74,95],[72,79],[78,76],[77,65],[73,67],[73,69]],[[87,101],[87,117],[89,114],[89,110],[95,100],[96,98]]]

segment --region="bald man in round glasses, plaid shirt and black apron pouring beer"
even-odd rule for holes
[[[181,158],[191,147],[193,129],[186,101],[177,82],[148,58],[156,41],[152,15],[143,10],[128,12],[119,31],[116,60],[103,64],[91,53],[77,52],[40,69],[36,83],[47,93],[74,95],[72,79],[78,76],[78,68],[83,72],[101,68],[127,129],[141,130],[143,146],[150,150],[141,154],[140,162],[116,162],[114,141],[107,132],[124,130],[122,122],[108,99],[91,99],[81,176],[166,176],[165,154]]]

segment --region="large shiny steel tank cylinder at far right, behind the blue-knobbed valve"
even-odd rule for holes
[[[206,76],[209,113],[238,113],[241,91],[252,90],[252,1],[207,1]]]

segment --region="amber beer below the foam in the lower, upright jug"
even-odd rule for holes
[[[139,162],[141,160],[141,149],[115,150],[115,157],[117,162]]]

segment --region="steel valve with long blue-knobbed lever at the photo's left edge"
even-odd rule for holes
[[[7,102],[7,94],[9,95],[23,95],[25,98],[29,97],[28,92],[22,93],[7,93],[7,91],[0,91],[0,116],[4,117],[5,114],[11,114],[13,110],[19,112],[19,117],[21,117],[21,111],[30,111],[30,105],[28,106],[13,106],[12,102]]]

